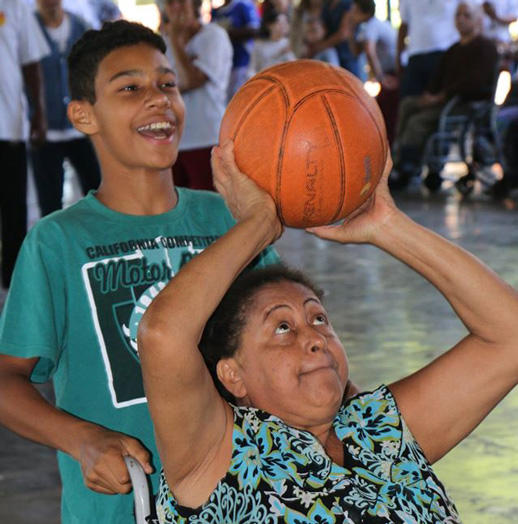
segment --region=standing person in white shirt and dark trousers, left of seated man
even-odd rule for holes
[[[444,51],[458,40],[454,20],[460,3],[461,0],[400,0],[396,66],[401,75],[401,97],[421,95]],[[408,63],[403,71],[405,53]]]

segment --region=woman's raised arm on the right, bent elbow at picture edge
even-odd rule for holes
[[[388,170],[358,216],[312,232],[383,249],[433,284],[466,326],[469,334],[450,351],[390,386],[433,463],[518,383],[518,293],[476,257],[398,211],[387,177]]]

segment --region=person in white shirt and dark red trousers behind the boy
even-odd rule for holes
[[[166,0],[167,56],[188,117],[173,168],[175,184],[213,189],[210,155],[218,143],[232,69],[232,44],[217,24],[201,21],[201,0]]]

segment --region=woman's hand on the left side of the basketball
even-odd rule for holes
[[[214,187],[237,221],[257,215],[261,220],[271,221],[275,230],[274,240],[281,236],[283,227],[273,198],[239,170],[231,140],[212,150],[212,172]]]

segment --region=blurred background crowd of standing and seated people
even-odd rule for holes
[[[174,178],[194,189],[212,189],[210,151],[228,101],[274,64],[312,58],[376,83],[395,159],[392,189],[421,173],[427,141],[452,98],[461,98],[456,111],[469,112],[474,101],[492,100],[502,69],[515,68],[509,26],[517,0],[400,0],[398,29],[376,17],[374,0],[225,0],[217,8],[202,0],[156,1],[189,115]],[[0,153],[10,173],[0,177],[4,288],[27,230],[27,158],[41,215],[62,206],[65,159],[84,193],[99,183],[91,144],[66,116],[66,56],[89,27],[121,16],[110,0],[0,0]],[[488,190],[508,207],[518,170],[513,109],[500,118],[504,177]],[[437,190],[440,169],[425,183]]]

